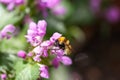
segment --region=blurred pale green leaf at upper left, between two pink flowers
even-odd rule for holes
[[[23,14],[19,14],[19,10],[9,12],[0,4],[0,29],[7,24],[17,23],[22,17]]]

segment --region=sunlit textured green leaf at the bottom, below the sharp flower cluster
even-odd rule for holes
[[[39,66],[18,62],[16,65],[15,80],[37,80],[39,78]]]

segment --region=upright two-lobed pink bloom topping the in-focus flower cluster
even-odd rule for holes
[[[42,42],[46,34],[47,23],[45,20],[40,20],[38,24],[31,22],[28,29],[28,34],[25,36],[32,46],[37,46]]]

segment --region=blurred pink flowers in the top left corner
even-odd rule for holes
[[[11,11],[15,6],[24,4],[24,0],[0,0],[0,3],[6,4],[7,9]]]

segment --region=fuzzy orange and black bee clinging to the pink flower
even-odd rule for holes
[[[70,45],[70,41],[63,36],[58,38],[54,45],[56,47],[59,47],[60,49],[64,50],[66,55],[69,55],[72,52],[72,47]]]

